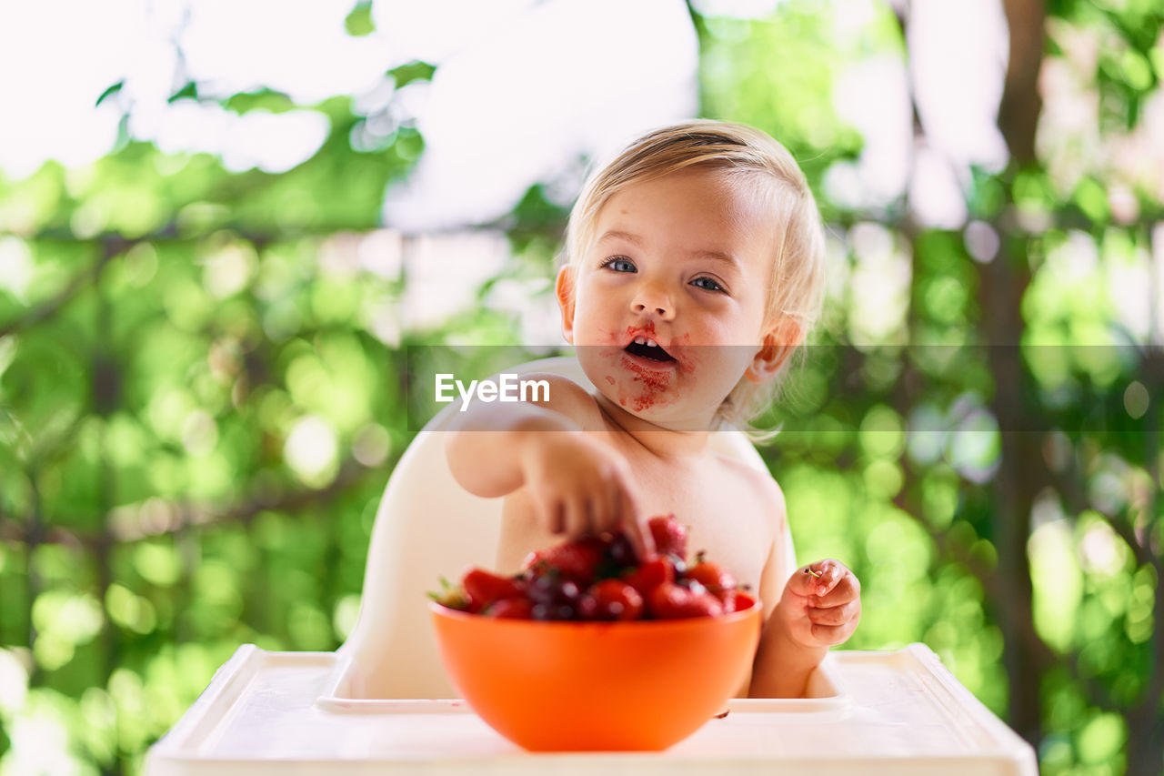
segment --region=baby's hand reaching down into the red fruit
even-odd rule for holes
[[[654,552],[640,518],[631,466],[581,431],[539,432],[521,471],[534,509],[553,534],[579,537],[625,531],[638,557]]]

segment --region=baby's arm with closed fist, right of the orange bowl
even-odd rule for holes
[[[752,698],[800,698],[829,647],[845,642],[860,620],[860,583],[837,560],[788,574],[795,563],[783,493],[773,481],[779,525],[760,578],[765,626],[752,664]]]

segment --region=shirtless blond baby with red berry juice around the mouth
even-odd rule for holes
[[[470,493],[505,496],[498,565],[516,572],[562,535],[623,529],[653,552],[674,513],[693,549],[758,592],[752,697],[799,697],[860,619],[837,560],[788,567],[785,499],[717,454],[803,343],[823,288],[824,235],[792,155],[751,127],[690,121],[647,134],[585,184],[558,274],[562,331],[596,390],[556,375],[537,403],[476,403],[448,440]],[[765,390],[768,387],[768,390]]]

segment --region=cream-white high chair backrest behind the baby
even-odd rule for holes
[[[511,372],[560,374],[594,389],[573,358],[532,361]],[[502,499],[471,495],[453,479],[445,458],[445,429],[455,407],[417,435],[389,478],[368,549],[360,616],[339,650],[349,658],[339,694],[457,696],[440,662],[426,592],[439,587],[440,577],[459,580],[468,566],[496,566]],[[717,452],[767,471],[741,432],[717,432],[711,439]]]

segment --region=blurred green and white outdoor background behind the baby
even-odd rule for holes
[[[341,643],[409,348],[554,352],[588,165],[702,115],[786,143],[829,225],[762,453],[801,560],[863,580],[846,648],[925,642],[1044,774],[1161,773],[1162,23],[3,3],[0,771],[140,773],[239,644]]]

